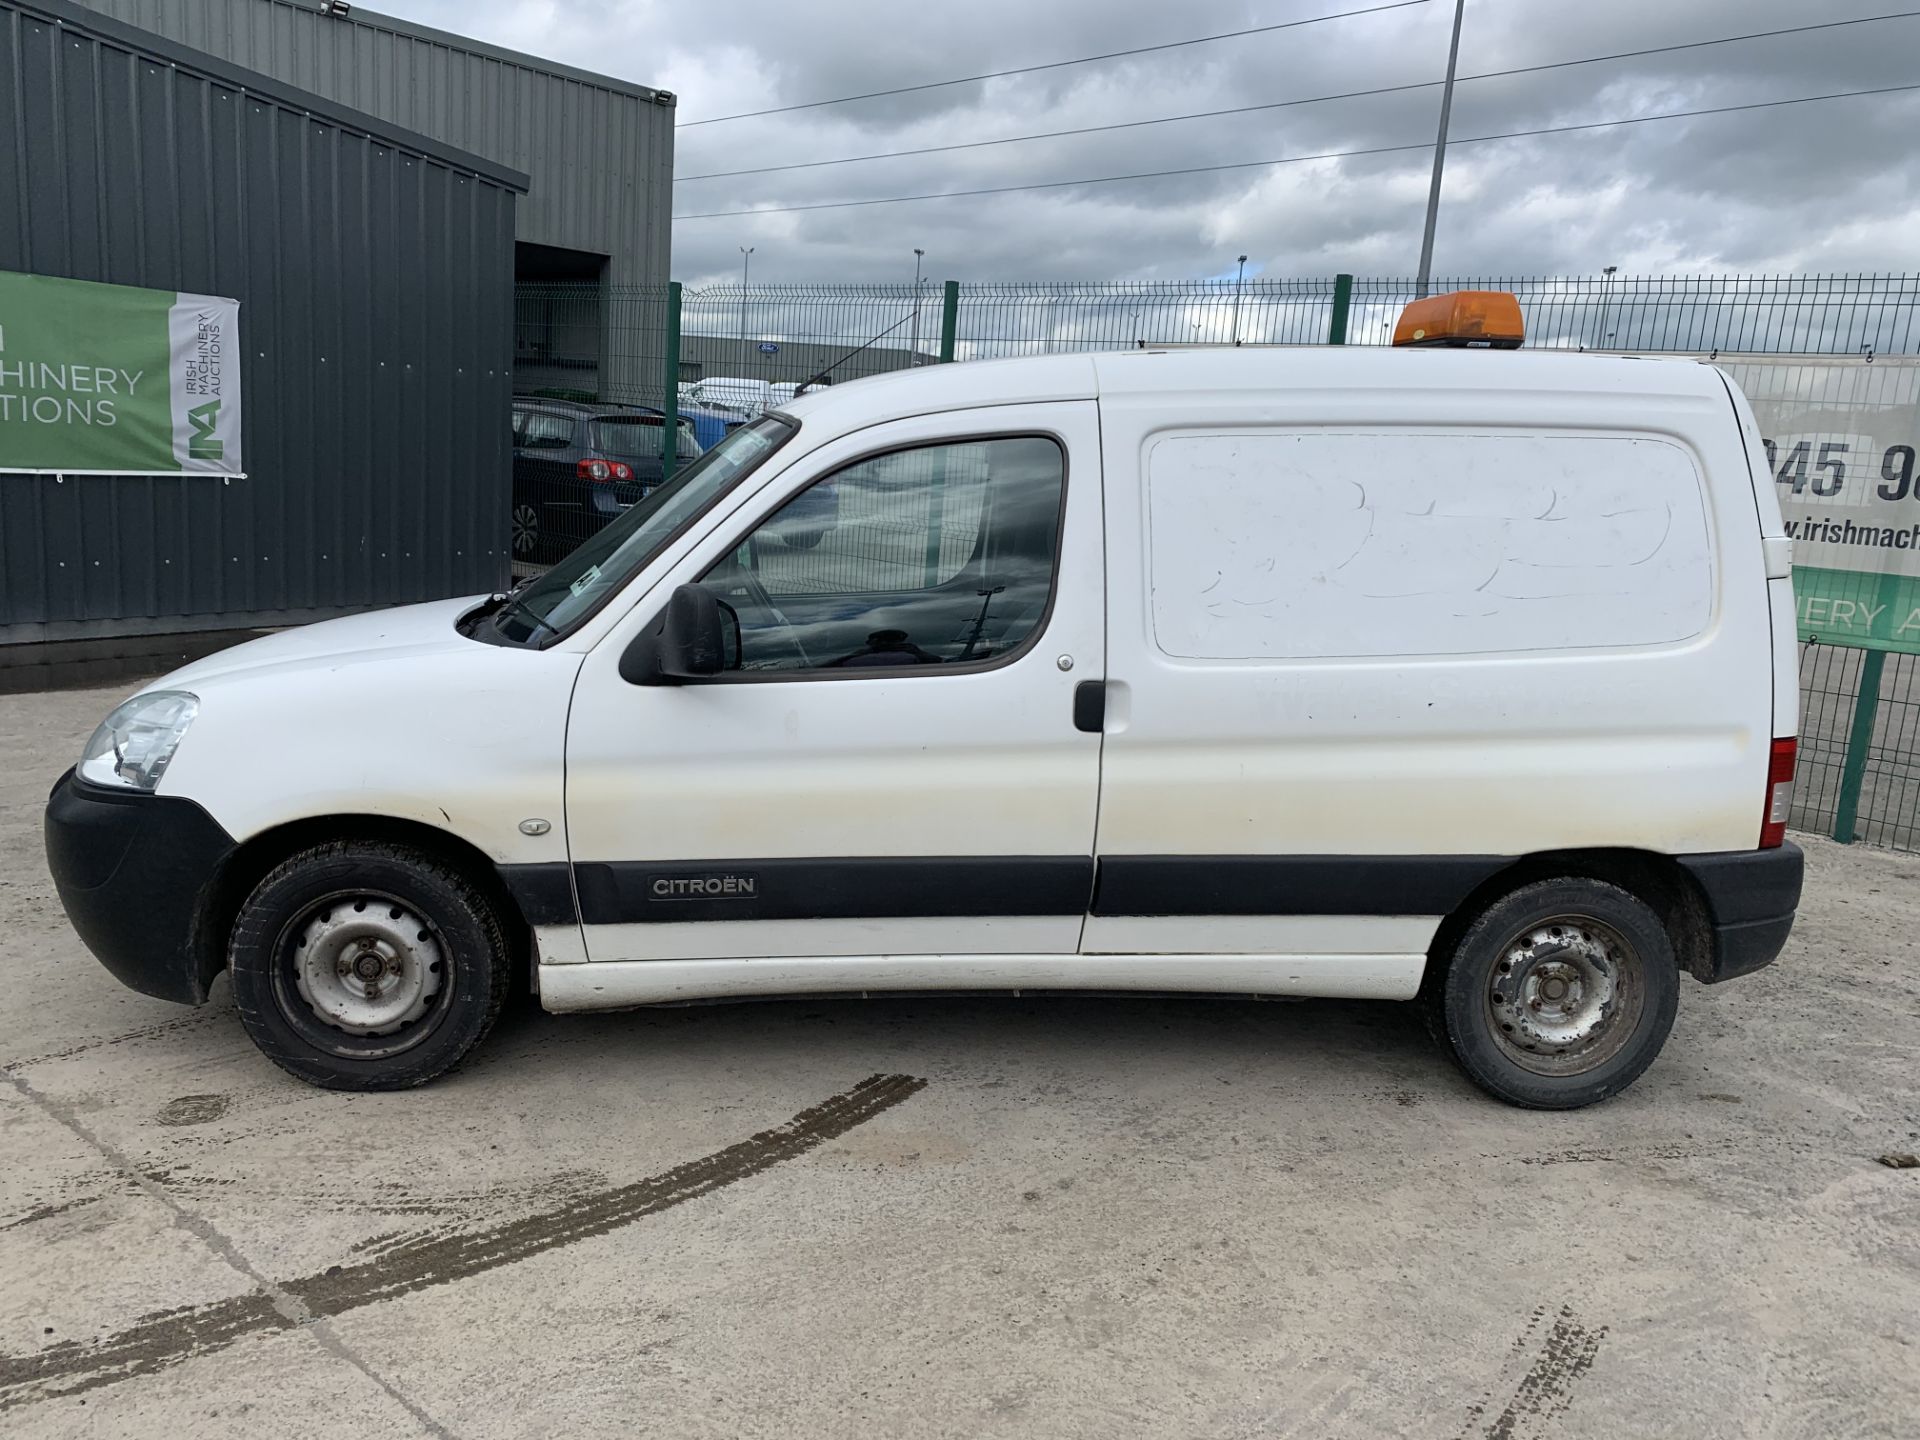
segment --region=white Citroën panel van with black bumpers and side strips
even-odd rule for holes
[[[1490,1092],[1580,1106],[1793,924],[1788,576],[1711,365],[916,369],[741,426],[511,597],[167,676],[48,860],[125,983],[227,970],[338,1089],[447,1069],[530,966],[549,1010],[1417,998]]]

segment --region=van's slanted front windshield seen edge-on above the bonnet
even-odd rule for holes
[[[639,574],[670,540],[699,518],[760,461],[799,430],[793,420],[764,415],[743,424],[628,509],[543,576],[526,584],[493,616],[501,639],[545,645],[586,620],[616,589]]]

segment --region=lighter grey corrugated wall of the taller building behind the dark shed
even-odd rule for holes
[[[526,171],[518,238],[611,257],[611,284],[666,284],[674,96],[319,0],[86,6],[394,125]]]

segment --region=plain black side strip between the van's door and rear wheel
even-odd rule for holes
[[[1096,916],[1444,916],[1500,854],[1102,854]]]

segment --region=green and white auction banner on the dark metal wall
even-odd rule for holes
[[[244,476],[240,301],[0,271],[0,470]]]

